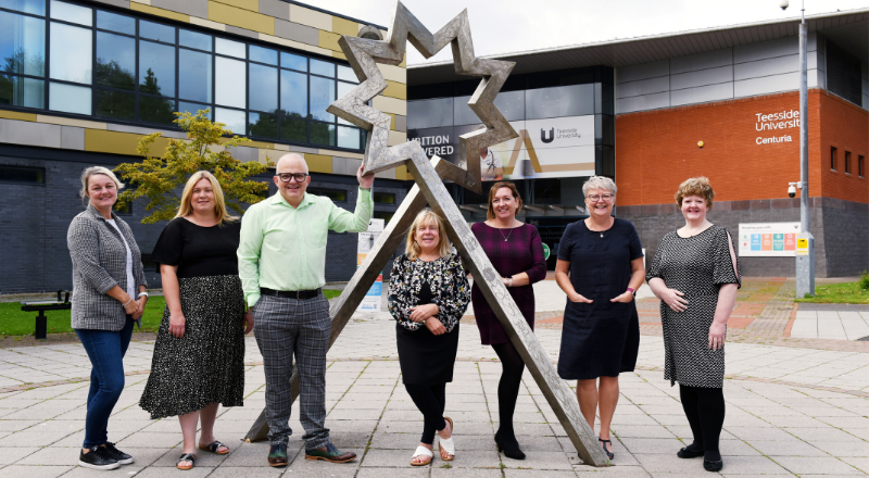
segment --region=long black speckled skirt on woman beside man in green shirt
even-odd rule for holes
[[[209,404],[242,406],[244,293],[238,276],[178,279],[185,332],[169,334],[169,309],[156,335],[151,375],[139,406],[151,419],[185,415]]]

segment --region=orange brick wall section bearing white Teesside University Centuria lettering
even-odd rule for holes
[[[720,201],[786,198],[788,183],[799,180],[799,129],[757,131],[756,114],[798,109],[798,93],[788,92],[616,116],[619,205],[672,202],[679,184],[693,176],[708,177]],[[792,140],[757,144],[757,138],[780,136]],[[840,163],[845,150],[853,152],[856,172],[857,155],[869,150],[869,112],[811,90],[810,196],[869,202],[866,179],[830,172],[833,143]]]

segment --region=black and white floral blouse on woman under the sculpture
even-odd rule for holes
[[[470,302],[470,285],[457,254],[430,262],[411,261],[406,254],[396,259],[389,280],[389,313],[405,329],[418,330],[423,323],[410,317],[411,309],[419,305],[424,282],[429,284],[431,302],[440,310],[438,319],[448,332],[453,331]]]

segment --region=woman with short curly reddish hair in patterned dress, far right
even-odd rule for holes
[[[709,471],[723,466],[718,439],[725,423],[725,335],[740,273],[730,234],[706,219],[715,192],[705,177],[679,186],[676,202],[685,226],[660,240],[648,286],[660,299],[664,378],[679,382],[694,442],[680,458],[703,456]]]

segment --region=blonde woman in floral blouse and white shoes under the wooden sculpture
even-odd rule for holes
[[[470,302],[470,286],[445,232],[437,214],[420,212],[407,234],[404,255],[392,266],[389,284],[389,312],[398,320],[404,388],[425,417],[423,439],[411,460],[414,466],[431,462],[436,430],[441,460],[455,457],[453,420],[443,416],[443,410],[446,382],[453,381],[458,320]]]

